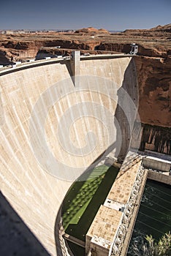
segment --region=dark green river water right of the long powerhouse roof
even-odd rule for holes
[[[148,180],[140,204],[140,211],[134,225],[127,256],[134,256],[133,244],[139,246],[146,235],[159,241],[171,230],[171,186]]]

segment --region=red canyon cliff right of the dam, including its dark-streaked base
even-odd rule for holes
[[[135,56],[139,86],[140,150],[171,155],[171,58]],[[139,132],[138,132],[139,131]]]

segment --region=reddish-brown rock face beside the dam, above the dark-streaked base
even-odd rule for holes
[[[171,127],[171,58],[135,57],[142,123]]]

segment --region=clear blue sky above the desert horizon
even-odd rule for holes
[[[151,29],[171,23],[171,0],[8,0],[0,29]]]

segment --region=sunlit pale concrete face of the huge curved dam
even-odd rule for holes
[[[56,216],[67,190],[121,137],[119,121],[114,132],[114,118],[105,124],[105,111],[115,116],[121,87],[136,97],[135,72],[129,57],[80,61],[84,76],[78,91],[66,61],[1,74],[1,192],[50,255],[56,255]],[[97,103],[105,111],[98,110]]]

